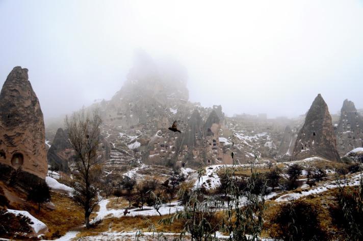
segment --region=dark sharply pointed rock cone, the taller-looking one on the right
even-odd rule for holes
[[[298,133],[293,159],[303,159],[315,155],[328,160],[340,161],[331,116],[328,106],[320,94],[307,112],[305,123]]]

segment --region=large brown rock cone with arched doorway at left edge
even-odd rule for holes
[[[1,163],[45,178],[43,113],[25,68],[15,67],[0,93],[0,153]]]

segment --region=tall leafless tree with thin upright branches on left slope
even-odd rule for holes
[[[94,207],[101,201],[99,192],[102,183],[99,175],[102,158],[97,156],[101,123],[102,120],[96,112],[90,116],[85,114],[85,110],[73,113],[70,118],[65,119],[76,167],[72,181],[73,200],[85,211],[86,228],[90,226],[89,217]]]

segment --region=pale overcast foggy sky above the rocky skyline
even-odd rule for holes
[[[110,99],[135,49],[188,69],[190,100],[297,116],[363,108],[363,1],[4,1],[0,85],[29,69],[45,118]]]

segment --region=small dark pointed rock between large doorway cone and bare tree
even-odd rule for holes
[[[66,131],[62,128],[58,128],[47,153],[48,164],[63,172],[67,172],[68,160],[72,155],[71,149]]]

